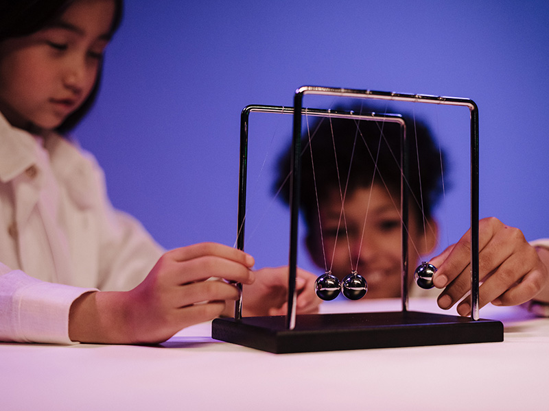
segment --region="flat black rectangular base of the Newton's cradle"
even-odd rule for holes
[[[503,324],[415,311],[307,314],[296,317],[292,330],[285,328],[285,316],[215,319],[211,336],[271,353],[299,353],[495,343],[503,341]]]

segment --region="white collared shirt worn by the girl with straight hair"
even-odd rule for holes
[[[0,340],[71,343],[71,303],[130,290],[163,250],[108,201],[95,159],[0,114]]]

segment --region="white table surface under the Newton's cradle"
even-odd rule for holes
[[[410,310],[442,312],[431,299]],[[549,319],[519,307],[480,316],[504,323],[503,343],[272,354],[213,340],[210,323],[158,347],[4,343],[0,409],[549,410]]]

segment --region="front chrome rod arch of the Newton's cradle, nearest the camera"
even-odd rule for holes
[[[479,275],[478,275],[478,107],[471,99],[462,99],[458,97],[441,97],[432,95],[411,95],[398,92],[385,92],[375,90],[356,90],[351,88],[330,88],[319,86],[303,86],[296,90],[294,95],[294,175],[292,176],[292,203],[290,213],[291,233],[290,233],[290,276],[295,276],[296,272],[296,254],[297,254],[297,216],[299,213],[299,177],[296,173],[301,173],[301,161],[299,160],[299,145],[301,140],[301,111],[303,97],[305,95],[324,95],[336,97],[352,97],[357,99],[382,99],[394,101],[410,101],[417,103],[432,103],[442,105],[460,105],[469,108],[471,119],[471,319],[474,321],[479,316]],[[296,154],[296,151],[298,155]],[[294,232],[295,231],[295,232]],[[294,278],[295,280],[295,278]],[[295,287],[293,288],[295,294]],[[404,292],[404,290],[403,290]],[[295,301],[296,296],[289,297],[288,301]],[[290,304],[288,304],[290,310]],[[295,315],[294,313],[292,313]],[[290,311],[288,316],[290,316]],[[295,322],[295,319],[294,319]]]

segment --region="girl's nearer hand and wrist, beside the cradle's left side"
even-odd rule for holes
[[[215,243],[168,251],[133,290],[91,292],[77,299],[69,336],[89,343],[160,343],[219,316],[226,300],[239,297],[229,282],[251,284],[253,264],[248,254]]]

